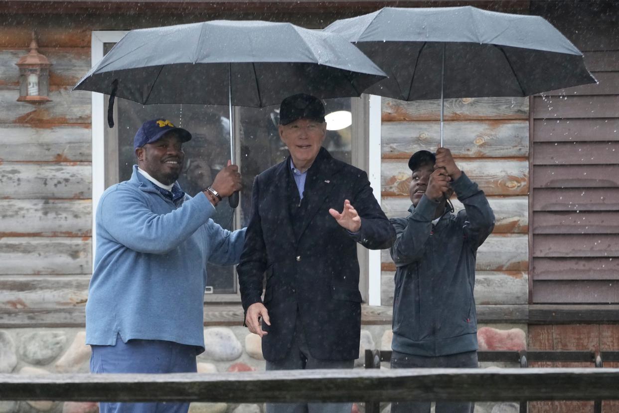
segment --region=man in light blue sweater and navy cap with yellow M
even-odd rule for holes
[[[196,372],[204,351],[206,264],[239,261],[245,228],[215,224],[217,202],[241,189],[236,165],[194,198],[176,179],[191,134],[165,119],[134,137],[137,165],[108,188],[96,215],[95,269],[86,305],[93,373]],[[101,403],[106,412],[186,413],[189,403]]]

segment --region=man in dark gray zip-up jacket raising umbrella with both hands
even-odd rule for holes
[[[410,157],[413,205],[391,220],[396,242],[392,368],[476,368],[475,256],[495,217],[483,191],[459,170],[451,152]],[[453,213],[454,191],[464,211]],[[436,413],[469,413],[472,402],[438,402]],[[430,402],[394,402],[394,413],[430,412]]]

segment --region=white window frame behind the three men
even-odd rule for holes
[[[127,31],[123,30],[97,30],[92,32],[90,46],[91,66],[103,59],[104,43],[117,43]],[[92,92],[92,254],[94,256],[97,246],[97,206],[103,191],[105,191],[105,95]],[[381,202],[381,98],[374,95],[364,95],[369,99],[368,123],[365,123],[361,131],[367,129],[368,146],[353,146],[353,163],[368,172],[370,185],[374,190],[374,196]],[[368,271],[367,300],[369,305],[381,305],[381,251],[360,252],[361,271],[364,267]],[[93,260],[94,265],[94,260]],[[362,290],[365,296],[365,291]]]

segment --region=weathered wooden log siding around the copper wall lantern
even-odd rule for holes
[[[90,93],[71,87],[90,68],[90,29],[37,30],[52,64],[51,102],[38,105],[17,102],[15,62],[28,53],[30,30],[4,27],[0,41],[0,311],[9,311],[0,318],[28,324],[15,315],[29,311],[33,327],[56,326],[71,309],[83,324],[92,271]]]

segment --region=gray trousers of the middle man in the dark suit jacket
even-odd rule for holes
[[[309,354],[303,328],[297,318],[295,338],[284,359],[270,362],[267,370],[305,370],[315,368],[353,368],[355,360],[317,360]],[[351,403],[267,403],[266,413],[350,413]]]

